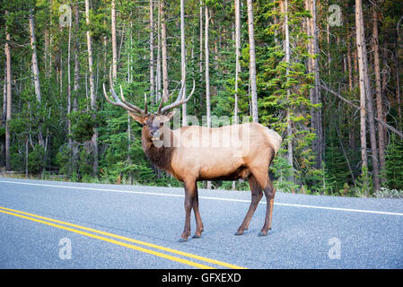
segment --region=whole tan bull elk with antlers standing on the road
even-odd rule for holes
[[[276,194],[268,176],[268,168],[279,150],[282,138],[275,131],[258,123],[216,128],[183,126],[171,130],[165,125],[173,117],[174,111],[170,110],[187,102],[194,91],[195,82],[188,97],[183,97],[182,84],[182,89],[174,102],[162,107],[163,100],[161,100],[158,110],[155,113],[148,113],[146,100],[145,109],[139,109],[125,99],[121,87],[121,99],[119,99],[113,89],[111,76],[110,93],[114,100],[110,100],[103,84],[106,100],[112,105],[127,109],[129,115],[143,126],[142,146],[147,158],[184,183],[185,227],[180,236],[181,242],[187,241],[190,236],[192,209],[197,225],[193,238],[200,238],[204,231],[198,209],[197,181],[199,180],[247,178],[251,191],[250,208],[235,235],[241,235],[248,230],[252,215],[264,193],[267,198],[266,218],[258,236],[266,236],[271,229]],[[223,144],[228,138],[232,138],[231,145]],[[214,139],[218,139],[215,144],[213,144]]]

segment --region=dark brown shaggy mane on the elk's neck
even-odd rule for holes
[[[171,130],[169,134],[171,135]],[[164,133],[164,135],[166,134]],[[164,146],[162,144],[161,147],[156,147],[151,139],[143,135],[142,145],[145,155],[150,161],[153,161],[153,164],[160,169],[171,171],[171,159],[173,151],[175,150],[175,148],[172,147],[172,144],[171,146]]]

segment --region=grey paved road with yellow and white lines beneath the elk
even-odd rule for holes
[[[0,178],[0,268],[403,268],[403,200],[277,192],[258,237],[266,203],[234,236],[250,193],[199,196],[205,232],[180,243],[181,188]]]

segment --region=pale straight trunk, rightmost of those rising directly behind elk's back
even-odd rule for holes
[[[255,32],[253,29],[253,4],[252,0],[247,0],[248,4],[248,31],[250,38],[250,98],[252,109],[252,120],[258,123],[258,89],[256,85],[256,57],[255,57]]]

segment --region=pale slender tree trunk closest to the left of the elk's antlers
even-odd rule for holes
[[[85,20],[87,25],[90,24],[90,0],[85,0]],[[95,98],[95,86],[93,78],[93,62],[92,62],[92,37],[90,30],[87,30],[87,50],[88,50],[88,71],[90,78],[90,99],[92,118],[95,119],[95,113],[97,111],[96,98]],[[93,127],[92,134],[92,148],[93,148],[93,164],[92,173],[96,176],[98,173],[98,129],[97,125]]]

